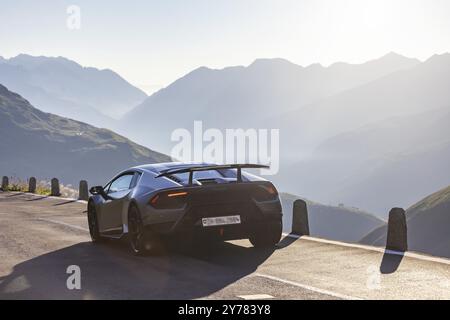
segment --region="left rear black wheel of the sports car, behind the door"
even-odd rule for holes
[[[131,252],[138,256],[157,254],[161,250],[160,239],[144,228],[141,214],[135,205],[131,205],[128,212],[128,241]]]

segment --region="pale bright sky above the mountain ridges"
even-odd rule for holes
[[[450,1],[0,0],[0,56],[64,56],[148,93],[200,66],[327,66],[392,51],[421,60],[450,52]]]

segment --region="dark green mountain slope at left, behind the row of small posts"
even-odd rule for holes
[[[0,85],[1,175],[99,184],[124,168],[168,161],[106,129],[44,113]]]

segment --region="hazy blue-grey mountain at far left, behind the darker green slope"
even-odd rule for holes
[[[111,70],[82,67],[63,57],[18,55],[0,60],[0,83],[37,108],[111,127],[147,95]]]

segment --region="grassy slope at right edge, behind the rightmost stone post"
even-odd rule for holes
[[[419,201],[406,215],[409,250],[450,258],[450,187]],[[384,246],[386,232],[386,226],[376,228],[361,242]]]

